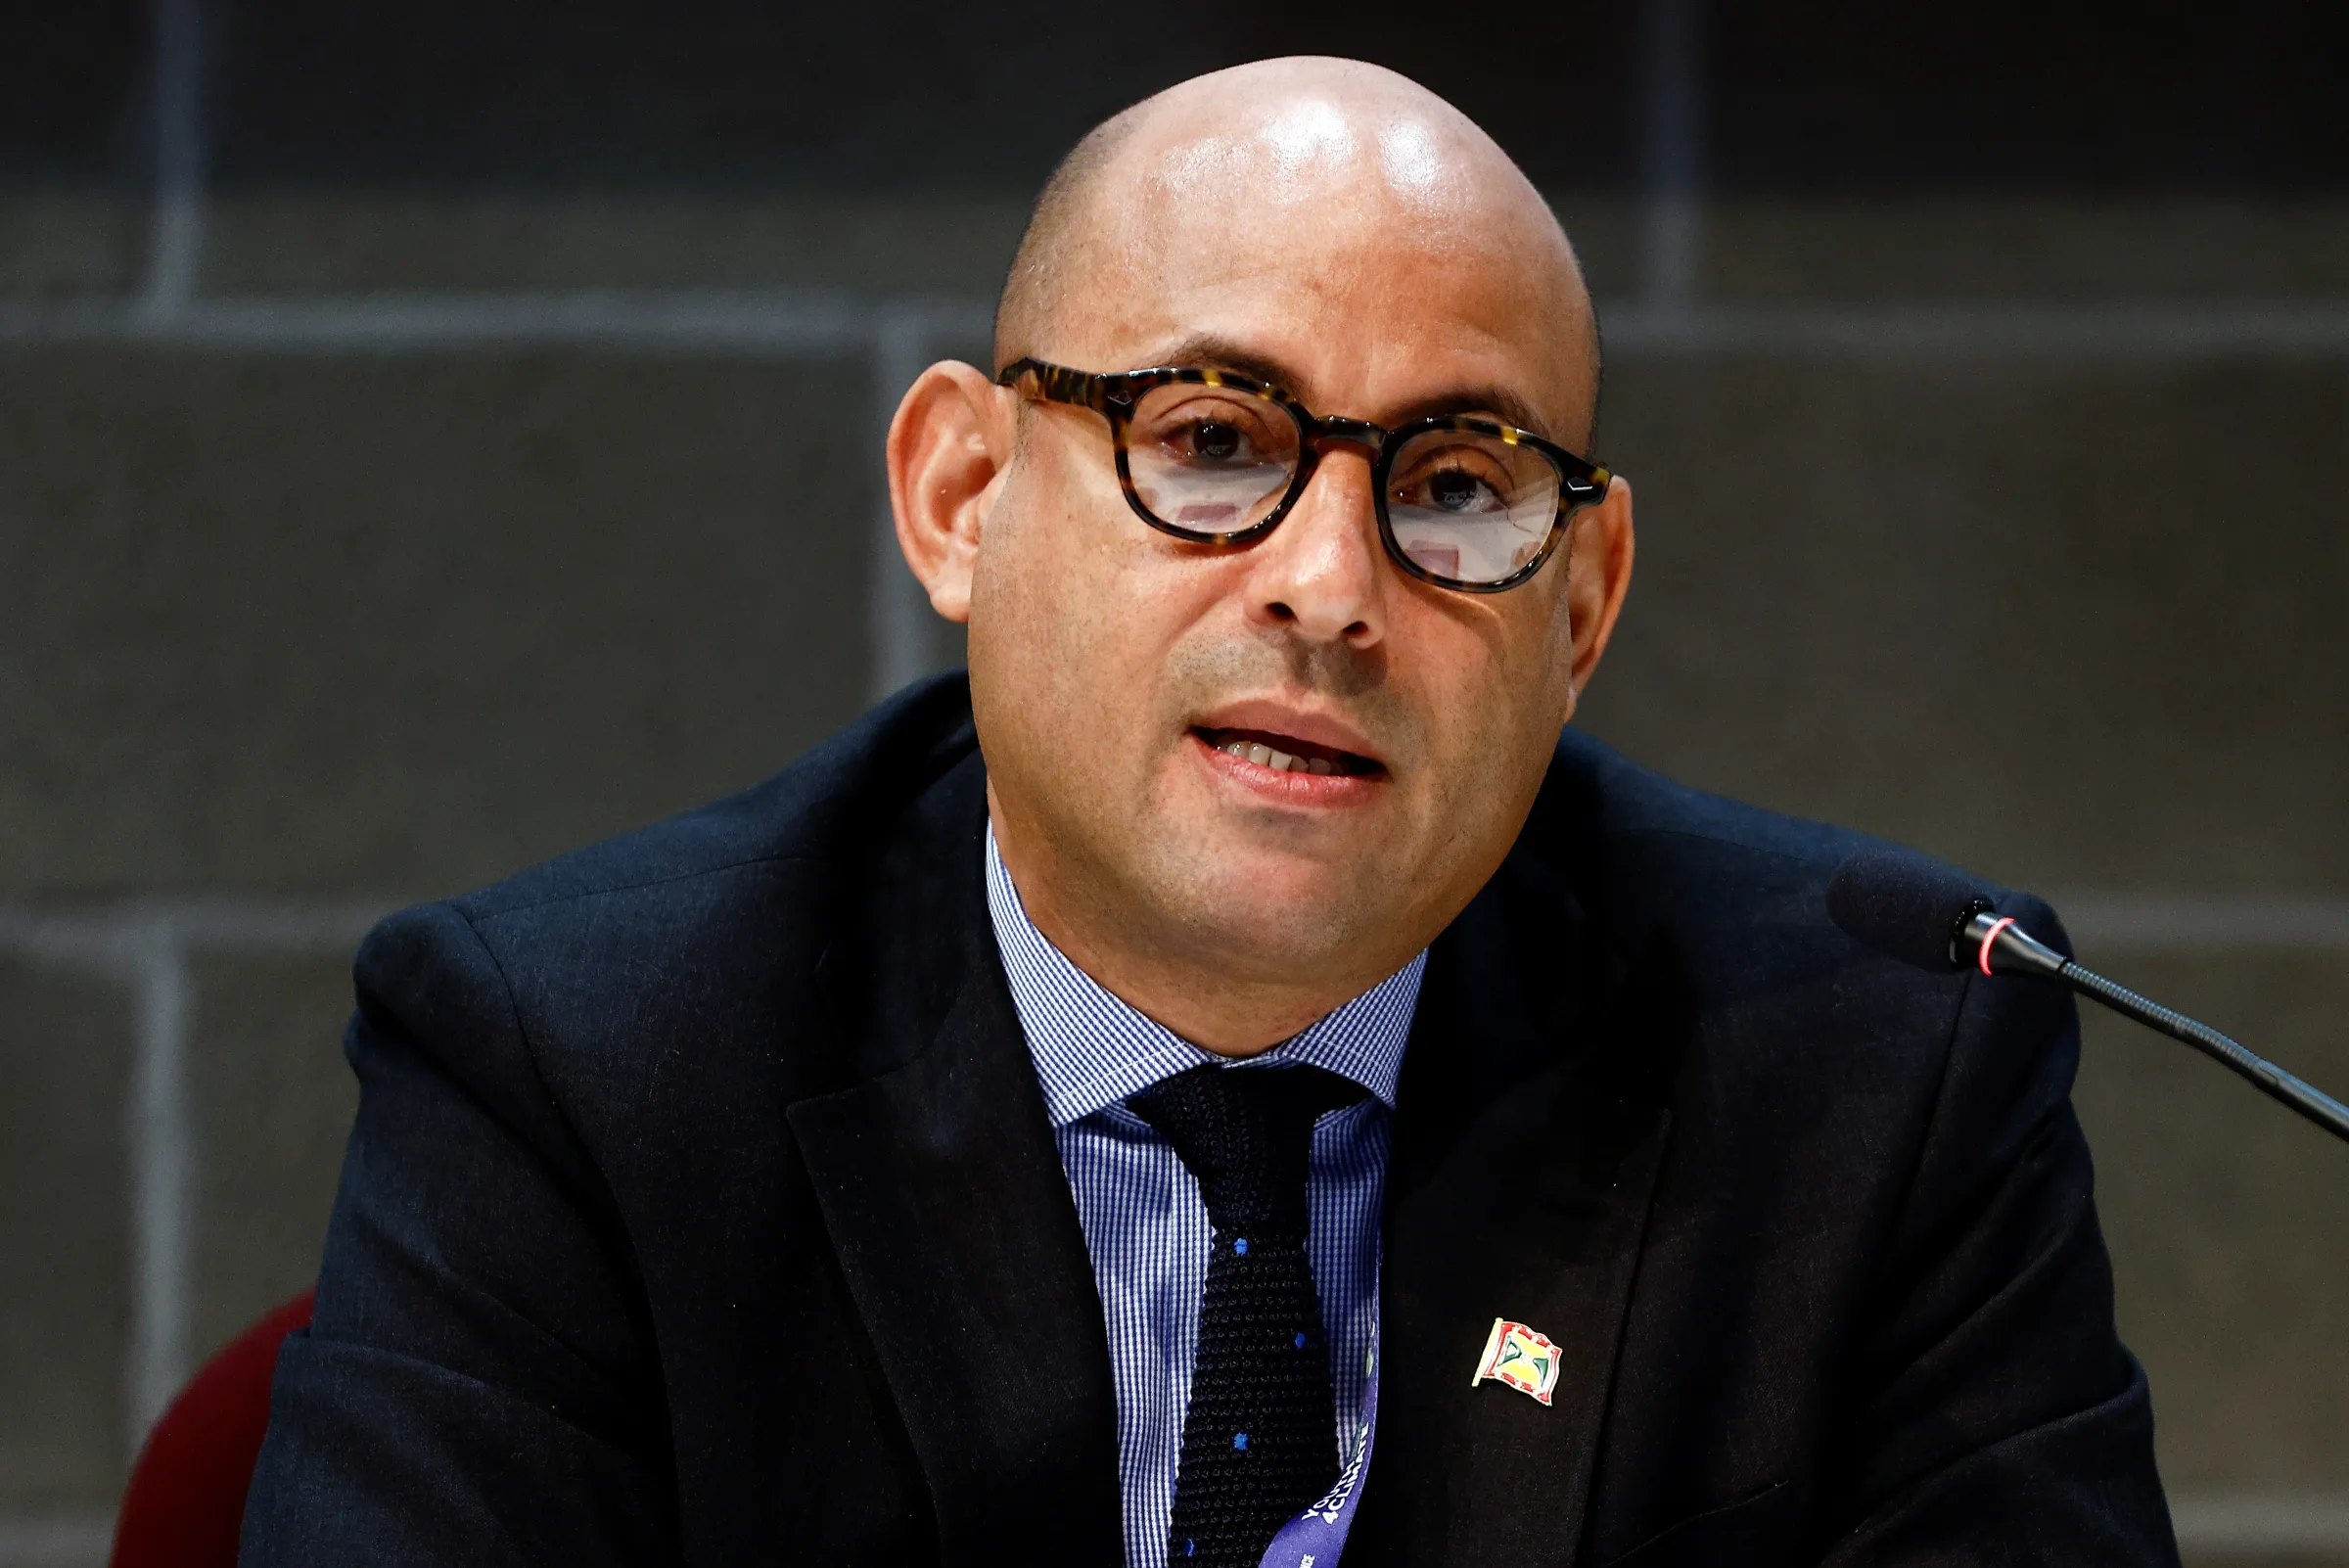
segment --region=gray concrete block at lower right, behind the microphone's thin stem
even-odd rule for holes
[[[2114,953],[2109,969],[2349,1089],[2349,955]],[[2121,1333],[2178,1493],[2349,1493],[2349,1150],[2194,1052],[2086,1019],[2077,1103]]]

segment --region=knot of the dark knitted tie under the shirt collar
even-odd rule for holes
[[[1365,1099],[1322,1068],[1203,1066],[1163,1077],[1125,1106],[1198,1178],[1219,1232],[1306,1235],[1313,1122]]]

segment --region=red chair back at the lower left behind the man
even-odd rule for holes
[[[235,1568],[244,1493],[270,1425],[277,1343],[310,1326],[303,1291],[204,1361],[132,1465],[113,1568]]]

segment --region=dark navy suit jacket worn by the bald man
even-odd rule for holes
[[[247,1563],[1118,1561],[984,810],[949,676],[369,937]],[[2175,1561],[2072,1005],[1853,946],[1858,843],[1560,742],[1431,953],[1348,1568]]]

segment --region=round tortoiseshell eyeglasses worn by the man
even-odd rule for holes
[[[1515,425],[1433,415],[1384,430],[1318,418],[1236,371],[1097,376],[1019,359],[996,383],[1102,413],[1135,514],[1205,545],[1252,545],[1278,528],[1306,493],[1322,441],[1367,446],[1386,554],[1421,582],[1466,594],[1499,594],[1539,573],[1574,512],[1602,500],[1611,479]]]

